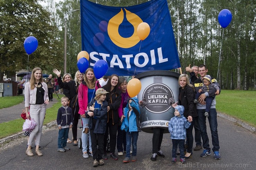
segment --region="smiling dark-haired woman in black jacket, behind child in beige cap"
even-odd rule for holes
[[[118,108],[121,104],[121,90],[118,88],[119,77],[116,74],[112,74],[109,78],[108,83],[102,88],[107,92],[106,100],[108,101],[108,113],[107,113],[107,129],[104,136],[104,154],[103,159],[108,159],[106,154],[107,147],[107,138],[108,138],[108,129],[109,129],[109,137],[110,137],[110,157],[113,160],[118,160],[115,155],[116,143],[117,143],[117,129],[118,129]]]

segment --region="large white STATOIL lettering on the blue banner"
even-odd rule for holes
[[[162,53],[162,47],[157,48],[157,54],[158,54],[158,63],[163,63],[163,62],[167,62],[168,58],[163,58],[163,53]],[[90,59],[93,61],[98,61],[101,58],[105,61],[107,61],[107,57],[110,57],[110,54],[106,54],[106,53],[98,53],[96,51],[90,52]],[[141,52],[135,55],[135,57],[133,56],[133,54],[127,54],[127,55],[122,55],[122,58],[125,58],[125,63],[123,63],[119,56],[117,54],[113,54],[112,59],[110,61],[110,68],[113,68],[114,66],[118,66],[120,69],[124,68],[124,64],[126,64],[126,69],[130,69],[131,68],[131,58],[134,58],[134,64],[137,67],[145,67],[147,66],[148,62],[149,62],[149,57],[147,55],[147,53],[145,52]],[[138,59],[144,59],[143,63],[139,63]],[[150,59],[151,59],[151,65],[155,65],[156,64],[156,56],[155,56],[155,50],[150,50]],[[94,66],[94,63],[90,62],[90,66]],[[147,66],[148,67],[148,66]]]

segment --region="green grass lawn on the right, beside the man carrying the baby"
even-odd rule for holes
[[[256,91],[221,90],[216,109],[256,127]]]

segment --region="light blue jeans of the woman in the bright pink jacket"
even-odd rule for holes
[[[82,118],[83,121],[83,130],[82,130],[82,148],[83,148],[83,152],[87,152],[88,148],[88,138],[89,138],[89,152],[92,152],[92,142],[91,142],[91,136],[90,136],[90,131],[89,133],[85,134],[83,131],[85,128],[88,128],[89,125],[89,118]]]

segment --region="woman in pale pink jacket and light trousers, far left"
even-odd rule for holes
[[[25,86],[25,111],[27,119],[33,118],[37,125],[32,130],[29,136],[28,148],[26,154],[28,156],[34,156],[31,151],[31,146],[36,138],[36,154],[43,156],[39,150],[39,145],[42,136],[43,122],[46,113],[46,104],[49,104],[47,84],[43,82],[42,70],[38,67],[32,71],[32,76],[29,82]],[[28,108],[30,106],[30,114],[28,114]]]

